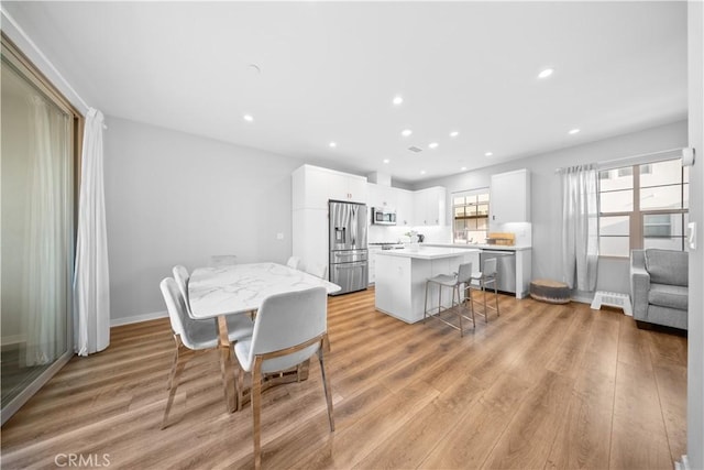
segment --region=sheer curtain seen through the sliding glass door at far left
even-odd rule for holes
[[[70,150],[68,117],[33,96],[29,102],[28,206],[24,227],[23,321],[26,365],[52,363],[66,347],[70,254],[67,237]]]

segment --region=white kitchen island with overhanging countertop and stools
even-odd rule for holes
[[[376,254],[376,309],[408,324],[422,320],[426,280],[455,273],[462,263],[472,263],[472,270],[479,271],[480,250],[441,247],[382,250]],[[450,306],[451,298],[450,289],[444,289],[443,306]],[[428,305],[438,305],[437,286],[428,293]]]

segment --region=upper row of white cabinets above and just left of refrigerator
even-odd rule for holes
[[[293,209],[327,209],[328,200],[366,204],[366,177],[304,165],[293,173]]]

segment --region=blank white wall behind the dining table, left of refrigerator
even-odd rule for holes
[[[175,264],[290,255],[290,174],[302,162],[117,118],[107,124],[113,325],[165,311],[158,283]]]

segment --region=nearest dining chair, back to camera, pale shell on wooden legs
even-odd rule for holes
[[[258,309],[252,337],[234,345],[234,356],[240,364],[237,387],[239,393],[244,390],[245,372],[252,378],[255,469],[258,469],[262,462],[261,395],[265,374],[294,370],[317,353],[328,404],[330,431],[334,431],[332,397],[323,363],[323,351],[329,348],[327,315],[328,294],[324,287],[272,295],[264,299]],[[242,396],[238,403],[241,406]]]

